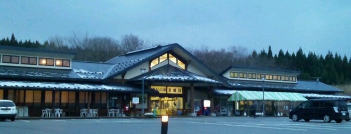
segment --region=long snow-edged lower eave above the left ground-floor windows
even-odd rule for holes
[[[122,92],[141,92],[139,88],[132,86],[108,85],[108,84],[87,84],[68,82],[37,82],[37,81],[11,81],[0,80],[2,88],[34,88],[53,90],[110,90]]]

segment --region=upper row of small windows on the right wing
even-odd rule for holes
[[[296,81],[296,76],[262,74],[262,73],[248,73],[248,72],[233,72],[233,71],[229,72],[229,77],[249,78],[249,79],[261,79],[262,77],[264,77],[267,80]]]

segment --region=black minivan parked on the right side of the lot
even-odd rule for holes
[[[348,115],[344,99],[318,98],[306,100],[290,109],[289,118],[293,121],[322,119],[324,122],[335,120],[340,123],[343,119],[349,120]]]

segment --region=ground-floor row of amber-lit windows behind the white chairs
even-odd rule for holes
[[[76,93],[79,93],[76,95]],[[15,100],[16,104],[26,105],[29,107],[40,108],[52,106],[52,91],[51,90],[8,90],[6,93],[8,99]],[[15,95],[16,94],[16,95]],[[43,97],[44,95],[44,97]],[[16,99],[14,99],[16,96]],[[91,97],[91,103],[94,107],[106,107],[106,92],[94,92]],[[4,99],[4,90],[0,89],[0,99]],[[55,91],[54,106],[60,108],[75,107],[76,101],[80,108],[86,108],[88,103],[88,92],[86,91]],[[42,105],[42,102],[44,102]]]

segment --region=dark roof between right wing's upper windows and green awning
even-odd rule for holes
[[[235,89],[253,89],[258,90],[265,86],[265,89],[275,91],[295,91],[295,92],[343,92],[341,89],[325,84],[320,81],[298,80],[297,83],[278,83],[278,82],[258,82],[244,80],[228,80],[229,84]]]

